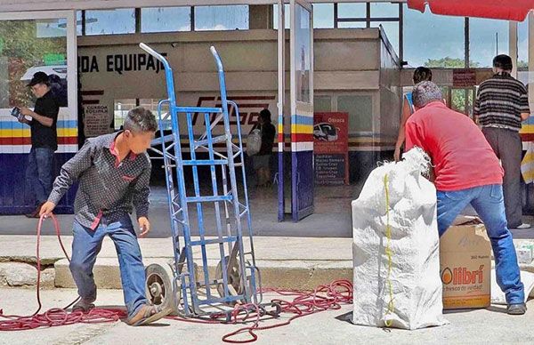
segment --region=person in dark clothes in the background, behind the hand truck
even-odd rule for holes
[[[262,135],[262,147],[260,151],[252,157],[254,170],[257,176],[258,187],[266,187],[271,184],[271,156],[272,145],[276,129],[271,123],[271,111],[263,109],[258,116],[258,122],[254,125],[251,132],[259,129]]]

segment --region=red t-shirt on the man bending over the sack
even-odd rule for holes
[[[432,158],[436,189],[501,184],[504,171],[473,120],[435,101],[406,123],[406,150],[418,146]]]

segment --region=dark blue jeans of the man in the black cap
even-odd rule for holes
[[[26,167],[26,186],[30,194],[34,194],[36,204],[44,203],[53,184],[53,149],[31,148]]]

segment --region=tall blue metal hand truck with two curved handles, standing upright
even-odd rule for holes
[[[168,98],[158,103],[160,137],[153,140],[152,147],[164,160],[174,245],[171,264],[151,264],[146,268],[147,298],[153,304],[172,309],[174,315],[212,318],[223,315],[229,321],[237,303],[263,306],[261,276],[255,265],[239,108],[235,102],[227,100],[223,62],[213,46],[211,53],[218,71],[221,105],[206,108],[179,107],[173,69],[168,61],[150,46],[139,45],[165,67]],[[164,105],[168,107],[166,114]],[[235,135],[231,133],[229,108],[238,118]],[[193,130],[195,115],[202,119],[206,129],[201,135]],[[165,135],[164,127],[169,122],[171,134]],[[221,135],[214,134],[217,124],[223,125]],[[182,152],[181,128],[187,129],[187,140],[184,141],[189,146],[189,157]],[[159,146],[161,150],[155,148]],[[198,179],[198,169],[202,167],[209,168],[211,186]],[[192,173],[192,186],[185,181],[185,169]],[[208,208],[214,211],[214,224],[206,224]],[[198,237],[191,236],[190,220],[195,215]],[[213,230],[209,226],[216,230],[215,237],[206,236],[207,229]],[[213,264],[212,271],[208,268],[208,247],[215,247],[220,253],[214,271]],[[279,306],[272,307],[279,310]],[[262,310],[265,310],[264,306]],[[265,313],[277,314],[276,311]]]

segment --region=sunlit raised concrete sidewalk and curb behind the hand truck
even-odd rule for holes
[[[70,255],[72,237],[65,236],[62,239]],[[312,289],[336,279],[352,281],[351,238],[255,237],[254,241],[256,265],[261,270],[263,286]],[[524,242],[534,241],[515,240],[516,245]],[[3,274],[20,275],[21,271],[25,272],[28,279],[27,284],[19,285],[34,285],[36,237],[0,236],[0,243],[3,244],[0,246],[0,285],[3,282]],[[171,238],[141,238],[139,243],[145,265],[166,264],[172,261],[174,254]],[[42,263],[48,268],[46,274],[48,285],[76,287],[70,276],[69,261],[61,253],[57,237],[42,237],[40,252]],[[200,264],[198,259],[200,253],[195,251],[193,256]],[[207,246],[206,256],[210,277],[214,277],[214,269],[220,260],[218,245]],[[25,265],[26,269],[21,265]],[[31,276],[32,269],[33,276]],[[522,269],[534,272],[534,265],[522,265]],[[121,288],[117,253],[108,237],[105,238],[96,261],[94,277],[100,288]]]

